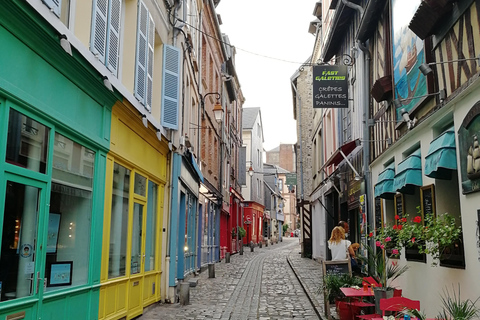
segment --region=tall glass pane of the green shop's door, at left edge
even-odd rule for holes
[[[33,295],[40,190],[7,181],[0,256],[1,301]]]

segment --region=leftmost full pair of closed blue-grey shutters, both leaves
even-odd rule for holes
[[[94,0],[90,50],[116,76],[122,0]]]

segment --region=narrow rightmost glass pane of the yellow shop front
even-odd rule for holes
[[[158,185],[148,182],[147,230],[145,233],[145,271],[155,269],[155,239],[157,238]]]

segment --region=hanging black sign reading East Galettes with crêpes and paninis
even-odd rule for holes
[[[348,108],[347,66],[313,67],[313,107]]]

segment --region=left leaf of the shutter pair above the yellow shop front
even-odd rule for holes
[[[147,21],[148,9],[140,2],[137,23],[137,61],[135,67],[135,97],[145,105],[145,76],[147,65]]]

